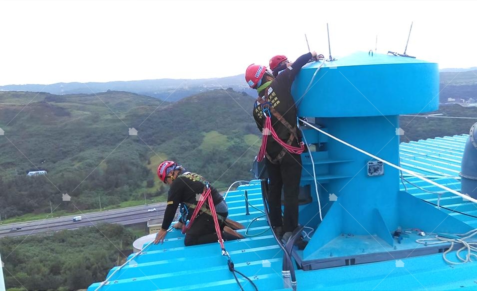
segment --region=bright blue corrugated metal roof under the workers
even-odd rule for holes
[[[468,135],[435,138],[400,145],[401,165],[449,188],[460,190],[459,171],[464,146]],[[446,177],[437,177],[446,176]],[[429,191],[442,189],[407,177],[410,182]],[[406,185],[407,191],[416,197],[438,203],[438,195]],[[401,189],[405,187],[401,184]],[[250,208],[245,215],[244,192],[248,192],[250,203],[263,209],[261,189],[258,181],[239,186],[227,197],[230,218],[247,226],[262,213]],[[464,213],[477,215],[477,207],[469,201],[451,193],[443,193],[440,205]],[[450,212],[442,209],[442,211]],[[477,227],[477,219],[451,212],[451,215]],[[430,218],[432,219],[432,218]],[[250,234],[268,229],[265,218],[255,221]],[[244,230],[240,230],[242,234]],[[225,242],[237,270],[247,275],[258,290],[284,289],[282,281],[282,251],[270,230],[257,237]],[[132,256],[132,255],[131,255]],[[453,258],[453,255],[450,256]],[[227,267],[226,257],[221,256],[217,243],[184,247],[180,231],[167,235],[163,245],[152,245],[143,254],[134,258],[117,272],[102,291],[113,290],[239,290]],[[397,262],[384,261],[353,266],[297,270],[298,290],[457,290],[476,289],[476,263],[448,265],[441,254],[402,259],[404,267]],[[109,274],[112,274],[113,268]],[[109,275],[108,275],[109,276]],[[245,290],[253,290],[251,284],[240,279]],[[95,283],[88,288],[93,291]]]

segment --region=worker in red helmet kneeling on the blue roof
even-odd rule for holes
[[[154,240],[155,244],[164,242],[167,230],[174,219],[179,204],[181,205],[182,216],[179,223],[175,224],[174,227],[180,228],[181,224],[184,224],[187,220],[191,220],[198,201],[202,199],[201,194],[203,194],[204,188],[206,187],[205,184],[207,183],[202,176],[196,173],[186,172],[182,166],[177,165],[174,161],[162,162],[157,168],[157,175],[161,181],[170,185],[170,189],[164,219],[161,229]],[[220,195],[214,187],[209,187],[214,201],[213,206],[217,212],[220,230],[222,231],[222,238],[224,241],[241,238],[240,235],[226,225],[228,207],[222,195]],[[212,243],[217,240],[218,237],[210,211],[210,205],[206,200],[190,226],[190,229],[187,230],[184,244],[186,246],[192,246]]]

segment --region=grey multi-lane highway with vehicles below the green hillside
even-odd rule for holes
[[[1,237],[14,237],[24,235],[34,235],[42,232],[58,231],[64,229],[76,229],[84,226],[95,225],[100,222],[119,223],[122,225],[133,225],[146,223],[151,218],[162,218],[166,204],[155,203],[142,206],[134,206],[115,210],[104,210],[100,212],[91,212],[79,214],[81,221],[73,222],[73,217],[79,215],[62,216],[59,218],[49,218],[44,220],[35,220],[20,223],[0,225]],[[156,211],[147,211],[156,208]],[[12,228],[21,227],[20,230],[13,231]]]

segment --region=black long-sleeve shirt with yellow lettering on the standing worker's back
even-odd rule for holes
[[[295,100],[291,94],[291,87],[296,75],[311,57],[311,53],[306,53],[300,56],[291,66],[285,69],[272,81],[268,89],[268,98],[269,102],[271,103],[271,107],[280,113],[283,118],[294,128],[297,127],[297,108],[295,106]],[[265,119],[263,116],[262,106],[258,101],[256,101],[254,105],[253,117],[257,123],[258,129],[262,132]],[[290,131],[273,115],[271,115],[271,123],[278,137],[286,142],[290,137]],[[292,146],[298,146],[296,140],[293,142]],[[283,147],[280,146],[274,139],[268,139],[266,150],[272,158],[277,156],[282,148]]]

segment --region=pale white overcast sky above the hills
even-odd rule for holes
[[[311,50],[477,66],[476,1],[0,0],[0,85],[212,78]]]

